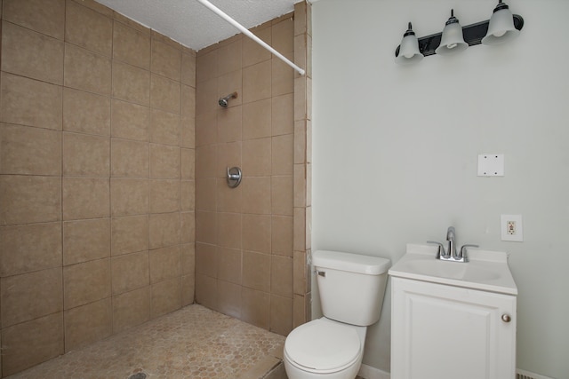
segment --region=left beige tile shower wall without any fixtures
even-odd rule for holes
[[[92,0],[0,5],[5,376],[193,303],[196,54]]]

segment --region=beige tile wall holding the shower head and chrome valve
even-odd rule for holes
[[[301,67],[307,6],[252,29]],[[196,301],[282,335],[309,320],[309,122],[298,80],[306,89],[306,76],[241,35],[196,55]],[[231,189],[233,166],[243,180]]]

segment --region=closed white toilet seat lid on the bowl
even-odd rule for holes
[[[295,328],[284,343],[284,354],[293,365],[320,374],[353,365],[361,351],[362,343],[356,330],[326,319]]]

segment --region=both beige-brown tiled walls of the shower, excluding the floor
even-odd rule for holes
[[[0,4],[2,376],[195,299],[279,334],[307,320],[309,6],[256,30],[299,76],[92,0]]]

